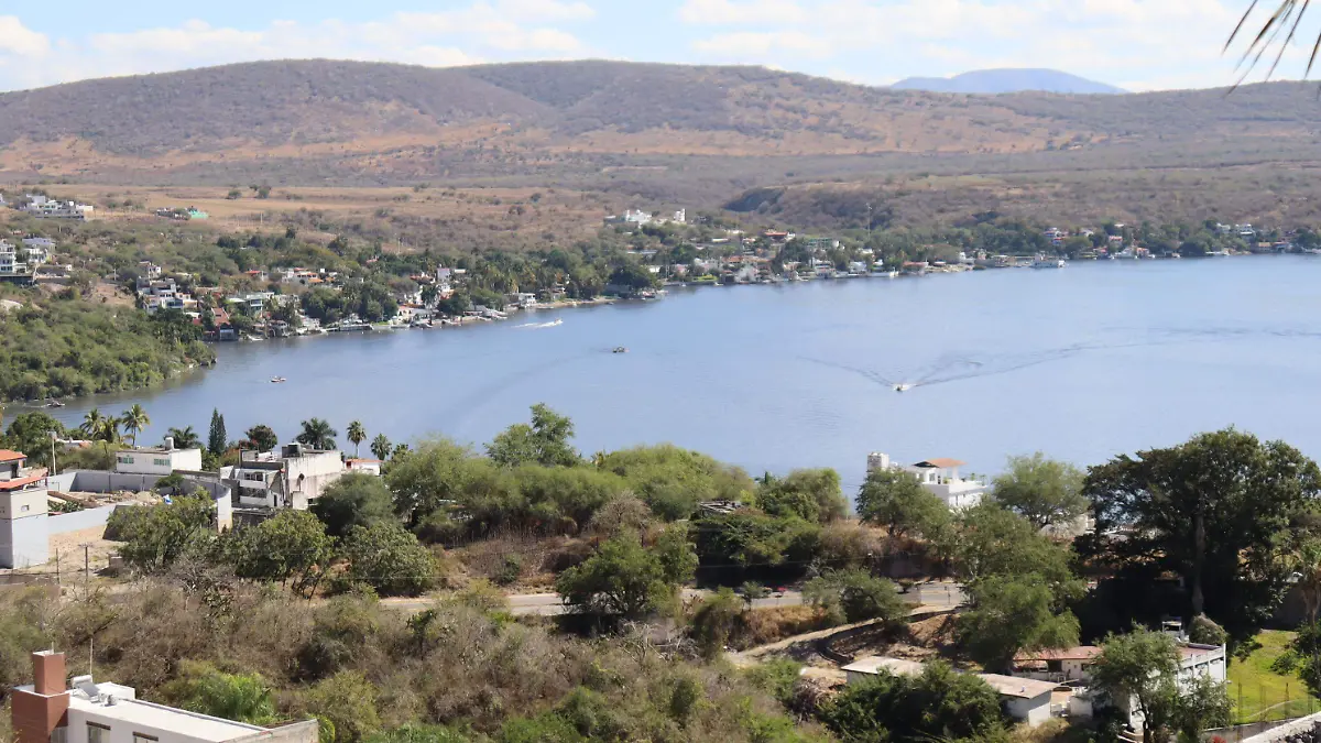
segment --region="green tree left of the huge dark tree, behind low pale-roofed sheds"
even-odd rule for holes
[[[958,617],[959,644],[991,672],[1009,672],[1021,650],[1071,648],[1078,619],[1061,609],[1036,574],[995,575],[968,588],[971,608]]]

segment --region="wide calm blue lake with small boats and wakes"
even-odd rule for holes
[[[712,287],[462,329],[222,344],[215,369],[170,387],[53,412],[77,423],[140,402],[144,442],[188,424],[205,440],[218,407],[231,439],[255,423],[292,438],[320,416],[341,434],[359,419],[369,440],[481,443],[546,402],[585,453],[672,442],[753,475],[835,467],[849,488],[871,451],[996,472],[1012,453],[1085,465],[1230,424],[1317,457],[1318,317],[1312,256]]]

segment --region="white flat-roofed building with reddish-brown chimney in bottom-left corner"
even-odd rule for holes
[[[15,743],[317,743],[314,719],[280,727],[190,713],[137,698],[132,686],[75,676],[65,654],[32,653],[33,684],[12,691]]]

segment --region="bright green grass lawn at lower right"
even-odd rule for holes
[[[1271,670],[1271,664],[1284,653],[1292,637],[1292,632],[1262,632],[1256,636],[1262,646],[1247,660],[1230,665],[1227,690],[1234,702],[1235,723],[1285,719],[1321,710],[1321,701],[1308,695],[1303,681]]]

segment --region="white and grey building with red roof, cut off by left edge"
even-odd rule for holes
[[[22,452],[0,450],[0,567],[49,559],[46,471],[28,467]]]

